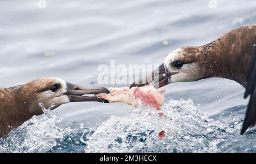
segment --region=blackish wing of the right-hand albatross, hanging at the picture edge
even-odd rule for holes
[[[256,44],[256,43],[255,43]],[[247,84],[245,90],[245,98],[250,95],[250,101],[247,106],[245,120],[243,120],[243,127],[241,130],[241,135],[245,133],[247,128],[253,127],[256,124],[256,46],[254,44],[253,55],[251,56],[251,61],[249,69],[247,71]]]

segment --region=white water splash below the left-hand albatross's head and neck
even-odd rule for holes
[[[57,145],[58,139],[70,134],[70,128],[59,128],[62,117],[51,111],[52,104],[46,109],[39,103],[44,112],[41,116],[32,116],[22,126],[11,130],[9,135],[0,139],[0,152],[47,152]]]

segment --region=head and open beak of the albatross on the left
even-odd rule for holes
[[[103,87],[82,87],[80,85],[67,83],[57,77],[43,77],[31,81],[21,85],[21,90],[23,97],[26,95],[27,100],[23,100],[22,98],[20,98],[20,100],[24,101],[24,104],[30,103],[30,105],[28,105],[30,110],[40,109],[38,105],[40,102],[47,108],[54,103],[55,107],[53,109],[68,102],[107,102],[93,95],[109,93],[109,90]],[[88,96],[84,96],[85,94],[88,94]]]

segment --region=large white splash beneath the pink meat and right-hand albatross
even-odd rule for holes
[[[242,119],[214,120],[191,100],[170,100],[158,111],[137,109],[127,116],[111,116],[88,135],[85,152],[251,152],[255,132],[241,136]],[[240,115],[242,116],[242,115]],[[231,118],[231,117],[230,117]],[[232,125],[232,126],[231,126]],[[165,131],[163,140],[158,132]],[[250,137],[249,137],[250,136]]]

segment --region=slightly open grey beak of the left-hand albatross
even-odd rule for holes
[[[107,100],[94,96],[99,93],[110,93],[109,90],[104,87],[82,87],[80,85],[67,83],[67,88],[68,90],[64,94],[68,96],[70,102],[97,101],[108,103]],[[91,94],[91,96],[83,96],[85,94]]]

